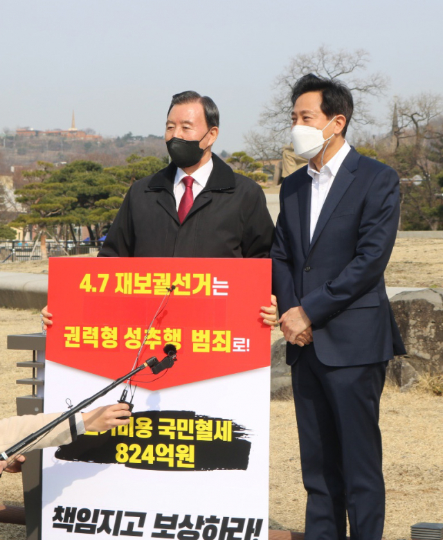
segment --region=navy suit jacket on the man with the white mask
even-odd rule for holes
[[[271,249],[280,315],[301,305],[314,348],[327,366],[358,366],[405,354],[383,272],[399,222],[395,170],[352,147],[309,242],[311,177],[307,166],[284,179]],[[288,343],[287,363],[300,347]]]

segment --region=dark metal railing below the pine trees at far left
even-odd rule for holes
[[[54,242],[46,240],[46,252],[48,257],[62,257],[64,255],[87,255],[88,253],[98,253],[102,242]],[[40,242],[4,240],[0,242],[0,263],[41,260],[42,250]]]

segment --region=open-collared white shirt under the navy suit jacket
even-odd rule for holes
[[[323,204],[325,204],[325,200],[329,190],[331,189],[332,182],[334,181],[338,169],[350,150],[350,145],[347,143],[347,141],[345,141],[345,144],[341,147],[341,149],[338,150],[338,152],[332,156],[332,158],[329,159],[329,161],[323,165],[319,171],[314,168],[311,160],[309,160],[307,164],[307,174],[309,174],[309,176],[312,178],[310,240],[312,240],[312,237],[314,236],[318,216],[323,208]]]

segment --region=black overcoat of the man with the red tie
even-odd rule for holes
[[[213,154],[213,171],[182,224],[176,165],[136,181],[100,250],[102,257],[269,257],[273,222],[263,190]]]

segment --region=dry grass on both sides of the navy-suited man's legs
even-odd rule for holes
[[[443,522],[443,398],[401,393],[388,385],[381,399],[386,540],[410,538],[418,521]],[[302,531],[306,495],[293,402],[271,402],[271,527]]]

